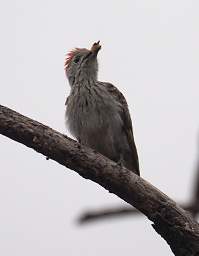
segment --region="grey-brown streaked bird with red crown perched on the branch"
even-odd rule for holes
[[[66,125],[80,144],[140,176],[127,101],[116,86],[98,81],[100,49],[98,41],[90,49],[74,48],[66,55]]]

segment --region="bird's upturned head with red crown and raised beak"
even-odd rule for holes
[[[67,54],[64,69],[71,86],[85,79],[97,79],[99,43],[94,43],[90,50],[75,48]]]

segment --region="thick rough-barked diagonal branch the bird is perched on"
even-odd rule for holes
[[[90,179],[136,207],[177,256],[199,254],[199,224],[161,191],[94,150],[0,105],[0,133]]]

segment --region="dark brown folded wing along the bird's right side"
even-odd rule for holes
[[[124,127],[123,127],[124,132],[127,136],[127,141],[129,142],[129,146],[132,151],[132,158],[136,168],[135,171],[137,172],[137,175],[140,175],[137,148],[134,141],[132,121],[131,121],[131,116],[129,113],[126,99],[124,95],[114,85],[110,83],[102,83],[102,84],[106,87],[106,89],[110,92],[110,94],[115,98],[115,100],[118,101],[122,106],[121,118],[124,123]]]

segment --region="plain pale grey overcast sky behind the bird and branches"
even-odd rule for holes
[[[2,3],[1,3],[2,5]],[[63,63],[101,40],[99,79],[131,111],[141,175],[190,198],[199,134],[199,2],[4,1],[0,103],[65,133]],[[124,204],[91,181],[0,136],[0,254],[173,255],[145,217],[78,226],[87,209]]]

